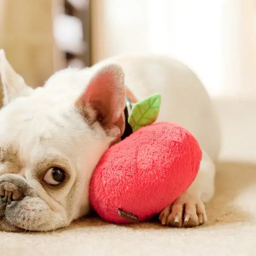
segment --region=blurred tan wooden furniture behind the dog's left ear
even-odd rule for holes
[[[15,71],[33,88],[42,86],[63,65],[53,37],[53,16],[59,10],[58,2],[0,1],[0,48],[5,50]]]

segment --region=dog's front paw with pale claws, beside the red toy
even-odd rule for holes
[[[207,216],[203,202],[185,192],[162,210],[159,220],[162,225],[194,227],[205,223]]]

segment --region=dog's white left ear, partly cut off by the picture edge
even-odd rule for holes
[[[19,96],[27,96],[33,90],[24,79],[17,74],[5,57],[4,50],[0,50],[0,73],[3,84],[3,103],[7,105],[11,100]]]

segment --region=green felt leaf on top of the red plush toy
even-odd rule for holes
[[[136,103],[128,117],[128,123],[131,125],[132,131],[135,132],[142,126],[153,124],[158,118],[160,104],[161,95],[158,93]]]

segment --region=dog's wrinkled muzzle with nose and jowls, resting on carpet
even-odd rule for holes
[[[3,183],[0,183],[0,231],[42,232],[69,224],[61,207],[52,209],[32,189],[30,192],[20,189],[22,194],[18,194],[13,193],[15,190],[9,188],[13,187],[10,185],[7,190]]]

